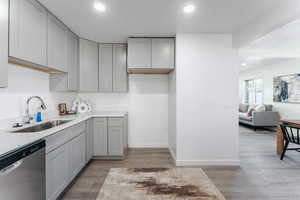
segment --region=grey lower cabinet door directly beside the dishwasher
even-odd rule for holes
[[[68,185],[68,148],[46,154],[46,199],[55,200]]]

